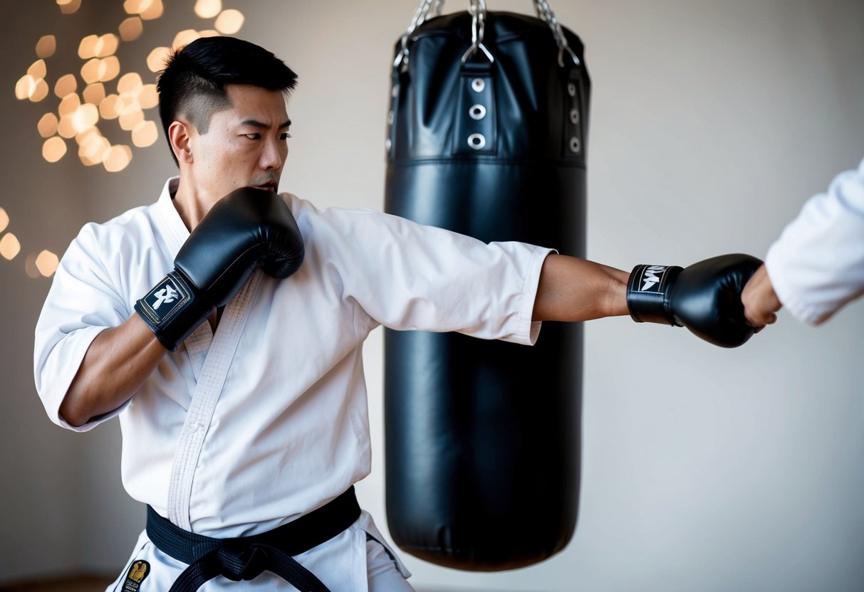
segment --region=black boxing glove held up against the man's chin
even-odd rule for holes
[[[243,187],[219,199],[183,243],[175,268],[135,304],[168,350],[176,351],[213,308],[228,303],[259,265],[275,278],[303,262],[303,237],[276,192]]]

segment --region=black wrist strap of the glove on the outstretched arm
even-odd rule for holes
[[[666,265],[637,265],[627,280],[627,310],[637,323],[682,326],[670,311],[672,286],[683,268]]]

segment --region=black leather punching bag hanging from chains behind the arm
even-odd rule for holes
[[[537,18],[476,0],[469,12],[429,17],[431,3],[397,42],[386,211],[584,256],[581,41],[545,2]],[[547,323],[534,347],[386,331],[386,506],[399,547],[488,571],[567,545],[579,500],[581,329]]]

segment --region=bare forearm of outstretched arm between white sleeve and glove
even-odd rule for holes
[[[587,321],[628,314],[630,274],[594,261],[549,255],[534,301],[535,321]]]

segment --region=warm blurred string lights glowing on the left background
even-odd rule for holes
[[[190,0],[191,2],[191,0]],[[63,15],[73,15],[81,0],[56,0]],[[100,32],[85,35],[76,46],[73,54],[81,60],[78,71],[64,73],[49,82],[49,68],[46,60],[58,52],[55,35],[41,35],[35,44],[36,60],[27,72],[16,81],[15,95],[22,101],[38,103],[53,94],[59,99],[54,111],[42,112],[36,123],[36,130],[43,139],[41,155],[45,161],[60,161],[69,151],[85,167],[101,164],[106,172],[117,173],[129,166],[133,149],[147,148],[156,143],[159,126],[148,119],[146,110],[158,106],[156,76],[165,66],[172,49],[187,45],[200,37],[234,35],[243,27],[245,16],[237,9],[223,9],[222,0],[195,0],[194,13],[201,19],[214,19],[211,28],[196,30],[187,28],[178,31],[171,44],[152,47],[147,52],[145,63],[150,73],[149,80],[138,72],[123,72],[118,58],[118,48],[123,43],[136,41],[143,35],[144,23],[163,16],[165,8],[162,0],[124,0],[126,13],[117,32]],[[166,40],[167,41],[167,40]],[[114,85],[116,92],[106,88],[106,83]],[[112,144],[103,135],[99,126],[107,121],[117,120],[119,129],[130,134],[130,144]],[[75,146],[77,145],[77,150]],[[0,233],[10,224],[9,216],[0,208]],[[14,259],[21,252],[21,242],[11,232],[0,237],[0,255],[7,260]],[[59,258],[48,249],[38,255],[32,252],[25,258],[26,273],[33,278],[50,277],[59,265]]]

